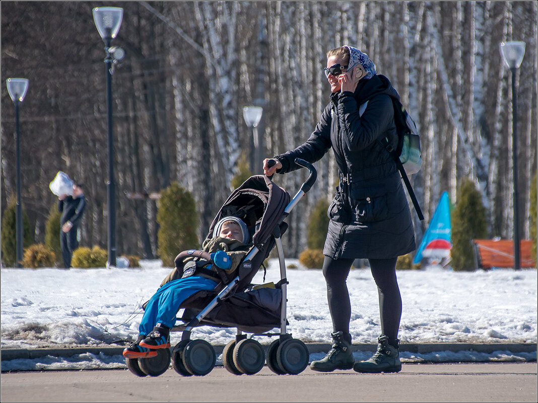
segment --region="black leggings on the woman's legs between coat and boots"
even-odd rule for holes
[[[334,260],[325,256],[323,275],[327,282],[327,300],[334,332],[349,333],[351,303],[346,279],[354,259]],[[397,258],[369,259],[373,279],[376,281],[381,316],[381,334],[398,339],[402,314],[402,299],[396,278]]]

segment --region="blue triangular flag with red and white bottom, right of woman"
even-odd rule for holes
[[[430,225],[419,249],[416,251],[413,264],[420,263],[423,257],[445,257],[450,251],[452,227],[450,226],[450,202],[448,193],[443,192],[439,204],[435,209],[434,216],[431,218]]]

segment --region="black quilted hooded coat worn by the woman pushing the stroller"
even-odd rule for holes
[[[384,76],[360,81],[355,93],[331,94],[321,120],[301,146],[276,158],[280,174],[300,168],[296,157],[311,163],[330,148],[340,183],[329,206],[325,256],[391,258],[415,249],[413,222],[392,156],[376,140],[398,141],[391,97],[398,92]],[[359,106],[368,101],[362,116]]]

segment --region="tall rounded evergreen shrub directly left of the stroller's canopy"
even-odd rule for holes
[[[161,191],[157,222],[157,250],[164,266],[173,267],[175,257],[183,250],[199,249],[196,203],[179,184],[172,183]]]

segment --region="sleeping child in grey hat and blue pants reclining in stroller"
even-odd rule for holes
[[[250,234],[246,224],[228,216],[215,226],[213,238],[202,244],[216,268],[205,260],[186,257],[176,261],[176,267],[162,281],[159,289],[145,304],[138,339],[123,351],[126,358],[157,356],[157,349],[169,348],[169,333],[176,321],[181,303],[197,291],[213,290],[218,284],[218,269],[232,272],[249,251]],[[178,258],[176,258],[178,259]],[[182,267],[182,269],[180,269]],[[217,269],[218,268],[218,269]]]

